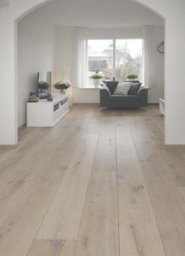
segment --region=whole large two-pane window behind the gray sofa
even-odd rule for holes
[[[104,79],[124,81],[134,73],[142,80],[142,43],[142,39],[88,40],[87,86],[93,86],[90,76],[97,72]]]

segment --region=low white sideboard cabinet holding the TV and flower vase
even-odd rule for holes
[[[27,102],[27,126],[53,127],[69,112],[67,94],[53,96],[53,101]]]

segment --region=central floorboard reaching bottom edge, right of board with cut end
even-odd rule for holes
[[[114,119],[103,118],[74,256],[118,256]]]

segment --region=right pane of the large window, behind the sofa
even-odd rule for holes
[[[142,80],[142,39],[118,39],[115,49],[115,76],[124,81],[126,75],[137,74]]]

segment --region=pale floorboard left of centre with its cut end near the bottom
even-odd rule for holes
[[[39,239],[75,240],[89,183],[97,134],[85,135],[79,144],[53,203],[38,232]]]

